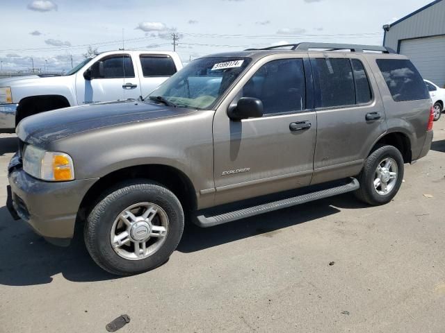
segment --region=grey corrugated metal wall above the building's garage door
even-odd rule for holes
[[[399,40],[435,35],[445,35],[445,0],[391,26],[386,33],[385,46],[397,51]]]

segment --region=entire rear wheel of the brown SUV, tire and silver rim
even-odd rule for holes
[[[401,187],[403,171],[401,152],[394,146],[381,146],[366,159],[355,195],[369,205],[389,203]]]

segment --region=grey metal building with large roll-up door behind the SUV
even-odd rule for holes
[[[445,0],[383,26],[383,45],[408,56],[423,78],[445,87]]]

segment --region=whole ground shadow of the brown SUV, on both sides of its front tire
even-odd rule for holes
[[[278,210],[213,228],[199,228],[188,223],[177,248],[181,253],[193,253],[220,244],[257,236],[298,225],[324,216],[337,214],[339,208],[364,208],[351,195],[326,198],[285,210]],[[61,273],[72,282],[104,281],[119,278],[102,271],[92,261],[76,232],[67,248],[53,246],[29,228],[23,221],[14,221],[6,207],[0,207],[0,284],[26,286],[47,284]]]

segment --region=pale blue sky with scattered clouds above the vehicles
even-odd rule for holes
[[[1,0],[3,70],[69,70],[88,46],[209,53],[296,42],[381,45],[382,26],[432,0]]]

